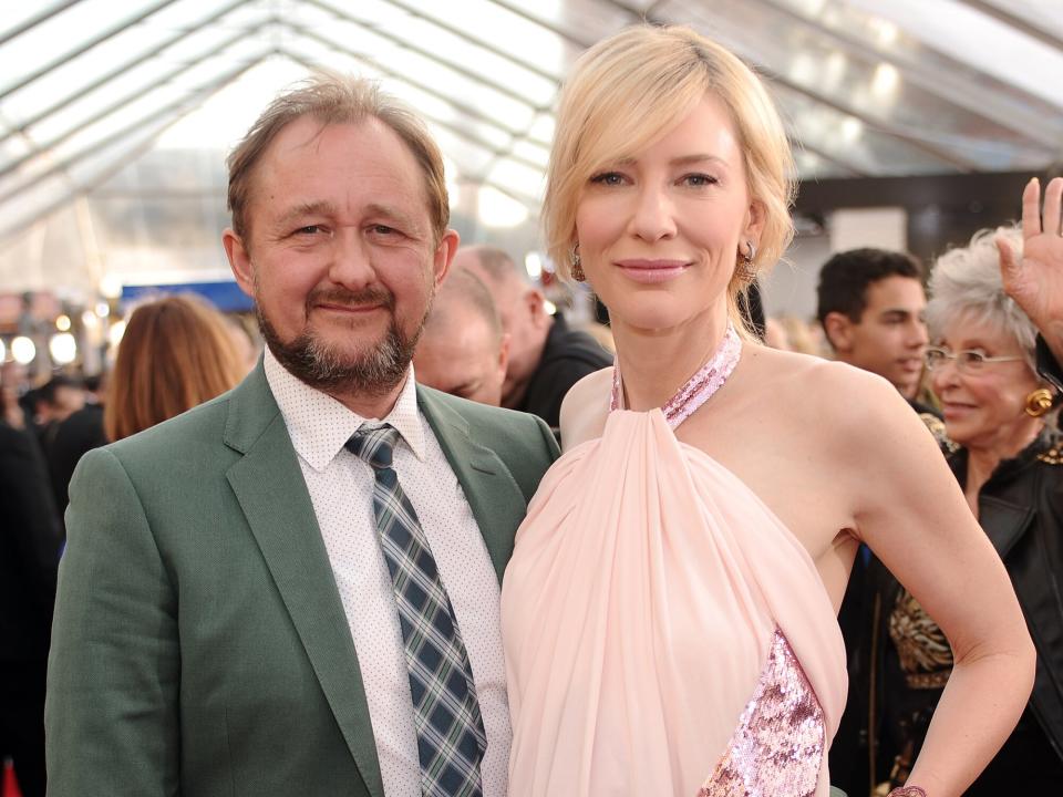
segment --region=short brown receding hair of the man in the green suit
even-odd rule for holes
[[[258,117],[230,153],[228,207],[233,230],[246,238],[249,231],[247,206],[256,166],[262,153],[291,122],[310,116],[321,126],[358,124],[369,118],[390,127],[410,148],[424,174],[429,216],[438,241],[450,222],[450,201],[443,177],[443,155],[424,123],[394,97],[380,91],[376,83],[332,72],[318,72],[278,96]]]

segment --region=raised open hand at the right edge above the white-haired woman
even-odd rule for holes
[[[1022,192],[1023,253],[997,239],[1004,291],[1038,327],[1050,348],[1063,353],[1063,177],[1052,179],[1044,192],[1034,177]]]

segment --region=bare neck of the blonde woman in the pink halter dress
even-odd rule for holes
[[[726,309],[715,309],[667,330],[612,327],[625,405],[644,412],[663,406],[712,356],[727,330]]]

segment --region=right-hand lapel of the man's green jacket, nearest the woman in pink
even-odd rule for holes
[[[421,385],[417,404],[462,485],[500,582],[514,534],[527,513],[524,495],[498,455],[473,442],[468,423],[455,410]]]

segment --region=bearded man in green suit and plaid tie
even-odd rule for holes
[[[49,794],[503,797],[499,581],[557,448],[414,385],[457,247],[441,155],[320,76],[233,153],[229,207],[267,351],[74,475]]]

